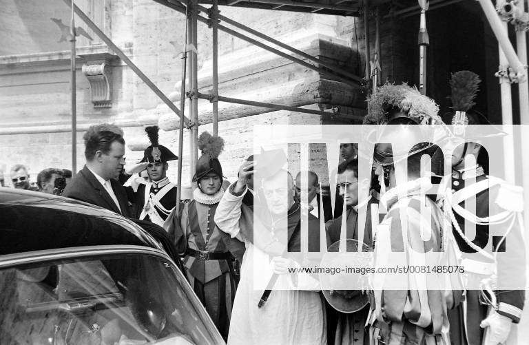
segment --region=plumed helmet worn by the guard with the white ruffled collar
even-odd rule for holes
[[[218,156],[224,149],[224,139],[220,136],[212,136],[208,132],[202,132],[198,137],[198,149],[202,151],[202,156],[196,163],[193,182],[197,182],[211,172],[223,178],[222,165],[220,165]]]

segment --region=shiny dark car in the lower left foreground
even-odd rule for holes
[[[84,202],[0,188],[0,344],[223,344],[154,235]]]

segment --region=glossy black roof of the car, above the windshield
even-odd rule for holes
[[[117,244],[163,250],[138,224],[107,209],[0,187],[0,255]]]

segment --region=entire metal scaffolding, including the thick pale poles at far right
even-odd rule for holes
[[[63,0],[68,6],[72,6],[71,0]],[[198,99],[208,99],[212,103],[213,107],[213,132],[214,135],[218,134],[218,102],[228,102],[228,103],[238,103],[238,104],[244,104],[244,105],[251,105],[255,107],[264,107],[269,109],[283,109],[283,110],[289,110],[293,112],[302,112],[307,114],[318,114],[318,115],[325,115],[325,112],[320,112],[318,110],[312,110],[312,109],[303,109],[299,107],[290,107],[287,105],[276,105],[271,103],[262,103],[258,101],[249,101],[249,100],[242,100],[238,98],[230,98],[225,96],[220,96],[218,94],[218,30],[222,32],[226,32],[228,34],[231,34],[232,36],[235,36],[239,39],[242,39],[244,41],[247,41],[253,45],[256,45],[264,50],[267,50],[269,52],[272,52],[273,54],[277,54],[278,56],[281,56],[284,59],[288,59],[290,61],[293,61],[294,63],[298,63],[304,67],[307,67],[311,70],[314,70],[315,72],[318,72],[324,78],[326,79],[333,79],[335,81],[340,81],[342,83],[346,83],[349,85],[359,85],[362,82],[362,77],[356,76],[355,74],[352,74],[351,72],[348,72],[340,67],[337,67],[335,65],[332,65],[330,63],[327,63],[326,61],[322,61],[321,59],[318,59],[315,56],[311,56],[305,52],[302,52],[300,50],[297,50],[290,45],[284,44],[276,39],[271,38],[270,36],[267,36],[266,34],[263,34],[262,32],[259,32],[258,30],[254,30],[252,28],[247,27],[246,25],[243,25],[241,23],[238,23],[237,21],[234,21],[233,19],[229,19],[228,17],[225,17],[221,14],[219,14],[218,6],[238,6],[238,7],[248,7],[248,8],[262,8],[262,9],[270,9],[270,10],[285,10],[285,11],[297,11],[297,12],[311,12],[315,13],[318,12],[320,14],[334,14],[334,15],[344,15],[344,16],[360,16],[360,10],[362,6],[364,7],[364,17],[367,21],[368,16],[366,12],[366,7],[368,5],[371,8],[375,8],[379,6],[381,3],[385,3],[388,0],[338,0],[333,1],[332,3],[330,1],[288,1],[288,0],[153,0],[156,3],[159,3],[163,6],[166,6],[168,8],[171,8],[172,10],[176,10],[177,12],[180,12],[182,14],[185,14],[186,16],[186,36],[185,36],[185,51],[183,52],[183,79],[182,79],[182,88],[180,90],[181,96],[180,96],[180,109],[172,103],[172,101],[161,92],[152,81],[150,81],[141,70],[128,59],[128,57],[95,25],[90,18],[86,16],[77,6],[73,4],[73,10],[74,12],[83,20],[87,25],[94,31],[95,34],[97,34],[115,53],[118,55],[122,61],[124,61],[136,75],[140,77],[140,79],[169,107],[169,109],[172,109],[172,111],[180,116],[180,126],[179,126],[179,138],[178,138],[178,149],[179,149],[179,162],[178,162],[178,185],[181,185],[181,172],[182,172],[182,164],[181,164],[181,158],[182,158],[182,145],[183,145],[183,126],[187,127],[190,131],[190,164],[191,167],[196,165],[196,161],[198,160],[198,151],[196,147],[196,140],[198,138]],[[448,4],[457,3],[461,0],[433,0],[431,3],[435,6],[435,8],[446,6]],[[519,52],[516,52],[515,49],[512,47],[512,43],[508,39],[508,35],[506,34],[506,31],[504,30],[504,23],[501,22],[501,19],[499,18],[496,9],[490,2],[490,0],[478,0],[479,4],[481,5],[481,8],[485,14],[486,19],[490,23],[492,27],[492,31],[494,32],[497,41],[499,43],[499,47],[501,49],[502,55],[505,56],[505,61],[510,65],[510,71],[512,71],[512,74],[514,74],[517,78],[517,82],[521,83],[519,88],[519,99],[520,99],[520,113],[521,113],[521,123],[523,124],[529,124],[529,92],[528,86],[527,86],[527,57],[524,54],[520,54]],[[521,1],[520,9],[521,11],[524,10],[524,2]],[[205,8],[204,6],[201,6],[202,4],[209,4],[211,5],[211,8]],[[344,4],[346,3],[346,4]],[[420,2],[419,2],[420,4]],[[433,6],[433,7],[434,7]],[[411,15],[413,12],[416,12],[417,10],[420,10],[421,6],[413,6],[411,8],[406,8],[404,10],[400,10],[398,12],[394,12],[392,15],[404,15],[408,16]],[[206,14],[207,17],[203,17],[200,14]],[[212,35],[212,45],[213,45],[213,66],[212,66],[212,91],[211,94],[202,94],[198,92],[198,65],[197,65],[197,41],[198,41],[198,32],[197,32],[197,23],[198,21],[205,23],[208,25],[209,28],[211,28],[213,35]],[[227,23],[239,30],[245,31],[248,34],[251,34],[253,36],[258,37],[259,39],[262,39],[266,41],[267,43],[263,43],[262,41],[258,41],[256,39],[251,38],[247,34],[242,34],[239,31],[236,31],[234,29],[228,28],[225,25],[220,24],[220,22]],[[526,46],[526,29],[527,27],[524,27],[523,29],[518,28],[517,29],[517,45],[518,50],[523,50],[523,48]],[[369,30],[366,30],[366,41],[367,43],[367,49],[366,49],[366,76],[369,77]],[[283,52],[282,50],[278,50],[277,48],[273,48],[271,45],[276,45],[279,48],[282,48],[284,50],[287,50],[291,54],[287,54]],[[296,57],[299,56],[299,57]],[[310,62],[307,62],[310,61]],[[189,92],[186,92],[185,90],[185,77],[186,77],[186,69],[189,71],[189,74],[187,75],[188,85],[191,90]],[[507,94],[507,87],[510,91],[510,85],[505,85],[503,87],[504,92],[502,94]],[[73,94],[74,92],[72,92]],[[184,115],[184,105],[185,105],[185,97],[190,98],[190,118],[185,117]],[[72,96],[73,101],[73,96]],[[505,123],[512,123],[512,101],[510,97],[502,96],[502,108],[504,109],[504,122]],[[73,122],[73,121],[72,121]],[[73,126],[73,125],[72,125]],[[72,127],[72,132],[74,132],[75,129]],[[72,133],[72,136],[74,134]],[[75,145],[75,143],[72,143],[72,145]],[[528,162],[525,162],[524,164],[529,167],[529,158],[527,159]],[[507,162],[509,163],[509,162]],[[508,164],[506,164],[508,165]],[[523,181],[524,187],[529,189],[529,177],[524,178]],[[179,197],[179,196],[178,196]],[[179,198],[178,198],[179,199]],[[529,201],[529,200],[528,200]],[[526,216],[526,220],[529,222],[529,216]]]

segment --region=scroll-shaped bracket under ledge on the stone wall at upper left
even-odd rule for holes
[[[94,107],[112,107],[112,67],[107,61],[87,61],[82,71],[90,83]]]

